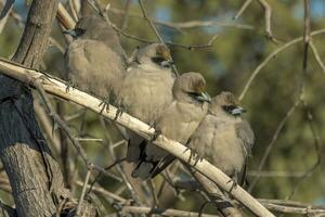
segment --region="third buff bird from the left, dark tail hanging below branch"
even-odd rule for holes
[[[169,139],[185,144],[208,111],[210,97],[204,92],[206,81],[198,73],[185,73],[174,81],[173,102],[155,123],[155,128]],[[140,161],[132,173],[141,179],[153,178],[166,168],[174,156],[162,149],[143,142]]]

